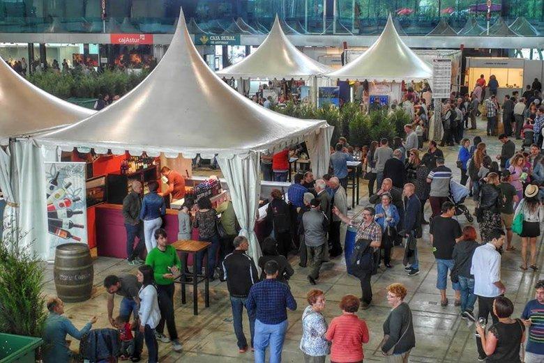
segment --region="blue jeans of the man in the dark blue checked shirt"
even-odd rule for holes
[[[255,320],[255,363],[264,363],[266,348],[270,346],[270,363],[282,361],[283,341],[289,323],[287,320],[279,324],[264,324]]]

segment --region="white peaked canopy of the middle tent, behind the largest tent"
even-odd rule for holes
[[[255,52],[216,73],[235,78],[299,78],[328,72],[331,68],[311,59],[289,42],[276,16],[269,36]]]

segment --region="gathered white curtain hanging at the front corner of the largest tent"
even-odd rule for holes
[[[261,249],[257,248],[259,242],[255,235],[255,219],[259,209],[258,186],[261,183],[259,159],[260,153],[253,151],[248,155],[218,159],[219,167],[229,185],[232,206],[241,227],[240,235],[248,238],[250,242],[248,254],[256,262],[262,255]]]

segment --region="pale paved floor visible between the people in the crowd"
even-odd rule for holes
[[[485,128],[483,123],[479,128]],[[479,134],[488,144],[488,154],[496,155],[501,144],[497,139],[485,137],[485,132],[476,130],[468,137]],[[520,141],[517,141],[518,146]],[[455,169],[458,146],[444,148],[446,164]],[[460,175],[457,176],[460,178]],[[368,201],[366,185],[361,187],[361,205]],[[472,209],[471,201],[467,202]],[[361,206],[355,208],[358,210]],[[429,212],[428,212],[429,213]],[[459,222],[464,225],[467,221],[460,217]],[[515,236],[513,245],[515,252],[505,252],[502,258],[502,279],[506,284],[506,296],[515,304],[515,316],[522,312],[527,300],[533,298],[533,286],[538,279],[544,278],[542,272],[522,272],[520,265],[520,239]],[[458,315],[458,309],[453,307],[453,298],[448,307],[440,307],[439,292],[435,288],[437,271],[435,258],[432,256],[428,240],[428,227],[425,227],[423,239],[418,242],[421,273],[415,277],[408,277],[402,266],[402,247],[395,247],[393,251],[393,269],[381,270],[372,277],[374,291],[373,305],[366,311],[359,311],[358,316],[365,319],[370,329],[370,342],[365,344],[365,362],[383,362],[384,357],[377,352],[381,341],[381,326],[388,315],[389,308],[386,302],[385,288],[393,282],[401,282],[408,288],[407,302],[414,314],[416,330],[416,348],[412,351],[411,362],[476,362],[476,344],[474,342],[474,327],[467,325]],[[540,251],[541,244],[538,249]],[[538,265],[542,265],[543,255],[538,256]],[[284,362],[302,362],[303,356],[299,350],[301,338],[301,314],[306,306],[305,294],[311,286],[305,279],[306,269],[300,268],[298,258],[293,257],[291,263],[295,275],[289,282],[299,308],[289,312],[289,330],[283,350]],[[98,316],[95,327],[107,327],[106,298],[107,292],[103,288],[104,277],[110,274],[123,272],[135,273],[136,268],[127,265],[126,261],[116,258],[98,258],[95,261],[95,289],[91,300],[76,304],[66,304],[66,315],[73,319],[77,327],[82,327],[91,316]],[[55,294],[52,281],[52,265],[47,266],[47,282],[45,293]],[[338,302],[343,295],[353,293],[360,295],[361,289],[358,280],[345,272],[345,262],[342,258],[335,258],[325,263],[322,268],[318,284],[315,286],[326,293],[326,310],[324,316],[330,321],[341,313]],[[190,290],[190,289],[189,289]],[[176,323],[183,345],[182,353],[175,353],[170,344],[159,343],[160,362],[252,362],[252,353],[239,354],[236,347],[236,337],[232,328],[232,314],[230,310],[226,283],[214,281],[211,284],[211,307],[204,308],[202,295],[199,295],[201,309],[199,316],[192,315],[192,300],[189,294],[188,304],[182,305],[179,288],[176,289]],[[448,295],[453,297],[451,285],[448,285]],[[119,304],[119,299],[116,300]],[[117,309],[118,305],[116,305]],[[249,337],[247,319],[244,323]],[[77,342],[76,342],[77,343]],[[73,343],[73,348],[77,345]],[[145,351],[144,351],[145,354]]]

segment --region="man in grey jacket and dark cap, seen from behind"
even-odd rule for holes
[[[308,252],[310,274],[308,281],[315,285],[319,278],[319,268],[326,256],[328,218],[319,208],[321,201],[314,198],[310,202],[310,210],[304,213],[301,222],[301,231],[304,232],[304,242]]]

